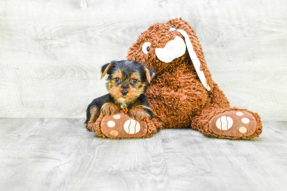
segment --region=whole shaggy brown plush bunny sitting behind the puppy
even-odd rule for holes
[[[123,110],[119,113],[121,120],[101,114],[96,122],[87,124],[98,135],[139,138],[161,128],[190,126],[206,135],[228,139],[250,139],[262,133],[257,113],[230,108],[211,78],[194,29],[181,18],[151,25],[130,47],[127,59],[143,62],[156,71],[146,92],[154,118],[131,121]]]

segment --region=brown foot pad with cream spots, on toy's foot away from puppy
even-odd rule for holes
[[[217,135],[246,137],[255,132],[256,119],[246,111],[225,111],[211,118],[209,128]]]

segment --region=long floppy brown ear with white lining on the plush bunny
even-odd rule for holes
[[[204,85],[206,90],[212,91],[214,82],[211,78],[211,73],[207,68],[202,47],[198,37],[196,36],[196,32],[186,21],[182,20],[181,18],[171,19],[168,21],[168,23],[170,23],[170,25],[184,37],[187,50],[194,65],[194,69],[196,70],[201,83]]]

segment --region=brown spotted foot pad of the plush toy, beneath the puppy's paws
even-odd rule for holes
[[[105,116],[101,122],[102,133],[110,138],[136,138],[147,133],[147,124],[136,121],[125,113]]]

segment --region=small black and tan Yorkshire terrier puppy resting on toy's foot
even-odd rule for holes
[[[153,118],[145,92],[155,72],[136,61],[112,61],[102,66],[102,77],[108,74],[107,90],[110,92],[98,97],[87,108],[87,120],[96,121],[100,113],[115,115],[119,108],[129,111],[129,116],[136,121]]]

